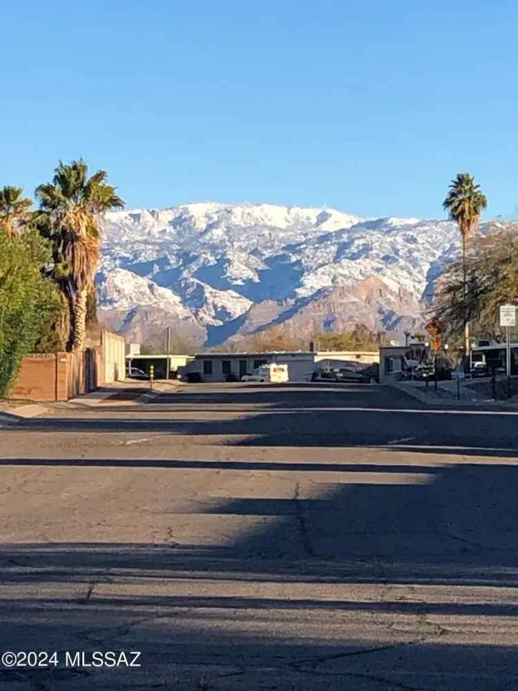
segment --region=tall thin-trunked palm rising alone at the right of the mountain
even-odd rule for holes
[[[448,211],[450,219],[459,226],[462,236],[462,272],[463,272],[463,301],[464,316],[464,351],[470,354],[470,324],[466,311],[466,244],[470,234],[477,228],[481,212],[488,206],[488,200],[476,185],[469,173],[459,173],[452,180],[448,196],[443,201],[443,208]]]

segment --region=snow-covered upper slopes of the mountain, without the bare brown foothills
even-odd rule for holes
[[[108,278],[99,302],[129,311],[178,301],[174,312],[215,333],[246,319],[253,304],[289,300],[307,314],[323,292],[376,277],[412,296],[401,305],[407,310],[433,293],[458,235],[451,221],[364,219],[329,208],[200,202],[118,211],[104,218]],[[376,322],[376,310],[369,319]]]

